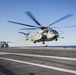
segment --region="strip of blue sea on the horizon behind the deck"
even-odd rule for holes
[[[76,49],[76,46],[26,46],[26,48],[45,48],[45,49],[51,49],[51,48],[67,48],[67,49]]]

